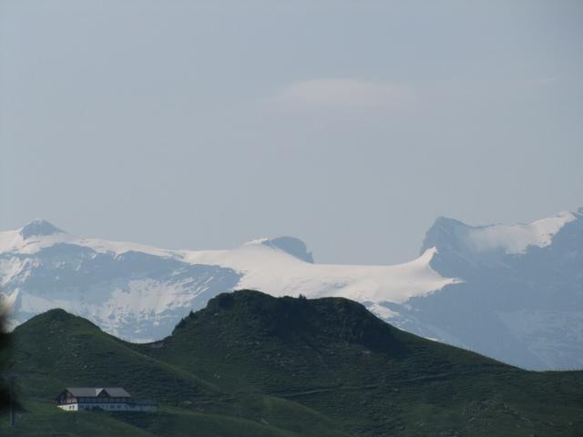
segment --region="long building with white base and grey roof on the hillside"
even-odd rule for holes
[[[56,405],[66,412],[105,410],[108,412],[155,412],[156,403],[134,401],[121,387],[66,388],[56,397]]]

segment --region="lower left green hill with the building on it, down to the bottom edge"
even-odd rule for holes
[[[76,423],[80,431],[71,435],[103,435],[94,429],[100,421],[97,416],[67,414],[50,402],[64,387],[105,385],[126,387],[135,397],[164,406],[156,414],[98,414],[112,427],[108,435],[298,435],[294,431],[345,435],[322,414],[300,404],[262,394],[234,397],[132,346],[63,310],[48,311],[18,327],[10,371],[18,375],[25,411],[17,418],[17,430],[6,429],[8,435],[37,435],[39,423],[50,424],[44,426],[45,432],[56,435],[70,432]],[[5,422],[7,418],[0,430]],[[302,423],[310,427],[309,432],[302,430]]]

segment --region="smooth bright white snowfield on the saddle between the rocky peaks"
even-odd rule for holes
[[[405,302],[441,290],[459,279],[442,278],[429,263],[436,249],[394,266],[312,264],[261,241],[238,249],[182,252],[191,264],[218,265],[241,273],[239,289],[261,290],[273,296],[308,298],[338,296],[359,302]]]

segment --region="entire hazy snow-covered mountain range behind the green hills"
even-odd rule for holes
[[[0,232],[0,287],[15,325],[63,308],[142,342],[225,290],[339,296],[524,368],[583,368],[583,208],[513,226],[437,219],[420,257],[394,266],[316,264],[291,237],[167,250],[81,239],[35,220]]]

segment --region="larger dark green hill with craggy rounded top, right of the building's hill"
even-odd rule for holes
[[[583,372],[527,372],[396,330],[349,300],[221,295],[143,353],[363,435],[578,435]],[[160,347],[161,346],[161,347]]]

